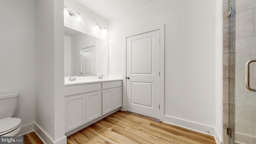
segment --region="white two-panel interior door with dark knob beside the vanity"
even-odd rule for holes
[[[159,119],[160,30],[126,38],[127,110]]]

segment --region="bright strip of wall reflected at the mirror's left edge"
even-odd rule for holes
[[[64,36],[64,76],[71,76],[71,38]]]

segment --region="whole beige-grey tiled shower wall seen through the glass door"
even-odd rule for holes
[[[230,6],[234,14],[228,18]],[[245,87],[245,64],[256,59],[256,0],[224,0],[223,12],[224,144],[256,144],[256,92]],[[250,85],[256,88],[256,63],[250,70]]]

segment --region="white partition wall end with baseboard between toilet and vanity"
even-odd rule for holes
[[[64,135],[63,0],[36,0],[36,132],[47,144]],[[46,14],[48,12],[49,14]]]

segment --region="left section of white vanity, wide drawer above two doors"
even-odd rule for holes
[[[65,132],[101,116],[101,83],[65,86]]]

